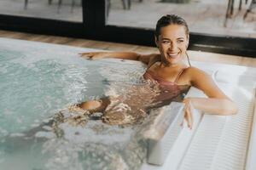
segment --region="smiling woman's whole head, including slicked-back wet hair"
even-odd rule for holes
[[[164,57],[161,60],[166,65],[172,65],[180,62],[179,58],[186,54],[189,46],[189,27],[185,20],[177,15],[173,15],[172,20],[168,17],[161,19],[155,28],[155,44]]]

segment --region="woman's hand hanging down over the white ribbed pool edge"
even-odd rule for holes
[[[184,119],[185,121],[187,122],[188,124],[188,127],[190,129],[192,129],[192,126],[193,126],[193,105],[192,105],[192,102],[191,102],[191,99],[189,98],[186,98],[186,99],[183,99],[183,104],[185,104],[185,107],[184,107]]]

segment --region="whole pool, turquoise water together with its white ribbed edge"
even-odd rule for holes
[[[145,66],[122,59],[88,60],[98,51],[43,42],[0,38],[0,167],[3,169],[253,170],[256,149],[256,69],[191,64],[212,75],[239,107],[236,116],[195,111],[194,127],[180,126],[183,105],[172,102],[133,125],[97,119],[73,126],[48,122],[88,99],[125,95],[144,87]],[[227,78],[228,77],[228,78]],[[136,102],[145,88],[133,96]],[[148,88],[146,88],[148,89]],[[129,91],[132,92],[132,91]],[[187,96],[204,96],[190,88]],[[145,98],[143,98],[145,99]],[[148,99],[150,101],[150,99]],[[170,114],[172,113],[172,114]],[[59,118],[59,117],[58,117]],[[254,142],[255,143],[255,142]]]

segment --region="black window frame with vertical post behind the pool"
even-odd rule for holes
[[[0,29],[154,47],[154,29],[107,25],[105,0],[82,0],[83,22],[0,14]],[[189,33],[189,49],[256,58],[256,38]]]

